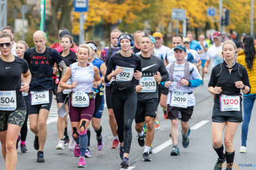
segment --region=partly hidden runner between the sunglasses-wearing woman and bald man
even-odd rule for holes
[[[25,41],[18,41],[17,44],[16,44],[16,54],[17,56],[19,56],[20,58],[23,59],[23,56],[24,56],[24,53],[25,51],[28,49],[28,45]],[[21,75],[21,86],[22,86],[22,83],[25,82],[25,79],[23,79],[23,76]],[[25,99],[26,101],[26,118],[25,118],[25,121],[21,127],[21,135],[18,136],[18,139],[17,139],[17,142],[16,142],[16,149],[18,148],[19,146],[19,141],[21,140],[21,153],[26,153],[28,152],[28,149],[27,149],[27,146],[26,146],[26,138],[27,138],[27,133],[28,133],[28,125],[27,125],[27,121],[28,121],[28,113],[29,113],[29,105],[28,105],[28,100],[29,100],[29,96],[28,96],[28,93],[24,93],[22,92],[22,96]]]

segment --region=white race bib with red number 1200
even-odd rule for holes
[[[240,111],[240,96],[220,96],[221,111]]]

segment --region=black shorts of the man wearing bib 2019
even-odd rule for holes
[[[183,122],[188,122],[193,114],[194,106],[188,106],[187,108],[179,108],[168,105],[168,119],[181,119]]]

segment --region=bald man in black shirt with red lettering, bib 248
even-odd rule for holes
[[[34,148],[38,150],[37,161],[45,162],[43,150],[47,136],[46,122],[52,103],[53,66],[56,63],[65,73],[66,65],[56,49],[45,46],[47,40],[44,32],[36,31],[33,40],[35,47],[28,48],[24,54],[32,74],[28,114],[30,129],[35,134]]]

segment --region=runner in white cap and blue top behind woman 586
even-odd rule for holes
[[[103,75],[103,77],[101,78],[101,80],[103,80],[107,71],[107,67],[102,60],[95,58],[95,54],[97,53],[97,45],[94,41],[87,41],[86,44],[89,45],[93,50],[92,55],[88,57],[88,62],[92,62],[94,66],[99,68],[100,77],[102,77]],[[95,109],[92,117],[92,126],[96,133],[97,149],[102,150],[104,147],[104,141],[101,133],[102,132],[101,116],[103,114],[104,104],[105,104],[104,86],[100,84],[100,86],[97,89],[94,89],[94,91],[97,93],[97,95],[95,97]],[[92,150],[90,149],[90,125],[88,126],[88,129],[87,129],[87,136],[88,136],[88,144],[86,149],[86,157],[89,158],[89,157],[92,157]]]

